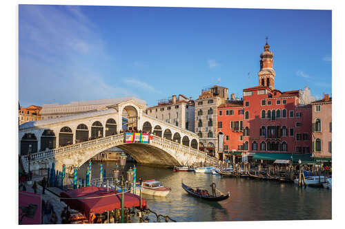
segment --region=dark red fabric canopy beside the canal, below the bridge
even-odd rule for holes
[[[106,210],[121,208],[121,193],[117,194],[115,189],[99,187],[83,187],[61,193],[61,201],[64,201],[70,208],[78,210],[90,219],[90,212],[94,214],[103,213]],[[117,195],[115,195],[117,194]],[[124,194],[125,208],[140,207],[140,197],[132,193]],[[92,198],[90,198],[92,197]],[[96,198],[95,198],[96,197]],[[79,199],[63,199],[79,198]],[[146,200],[141,199],[141,205],[146,208]]]

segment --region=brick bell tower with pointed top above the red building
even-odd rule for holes
[[[267,43],[268,37],[266,37],[266,45],[264,46],[264,52],[260,54],[260,72],[259,85],[263,87],[270,87],[275,89],[275,70],[273,69],[273,53],[270,52],[270,45]]]

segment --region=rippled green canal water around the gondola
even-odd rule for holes
[[[112,175],[115,162],[103,162],[106,176]],[[126,170],[132,164],[126,165]],[[78,171],[85,177],[86,164]],[[99,177],[99,162],[92,162],[92,177]],[[260,181],[248,178],[179,172],[170,168],[137,166],[137,179],[156,179],[171,188],[166,197],[143,195],[150,210],[168,215],[179,222],[193,221],[257,221],[290,219],[331,219],[332,191],[325,188],[299,188],[294,184]],[[217,203],[192,197],[181,187],[181,182],[192,187],[211,190],[215,182],[221,192],[230,192],[229,199]],[[210,191],[210,193],[212,193]],[[150,221],[155,221],[154,215]]]

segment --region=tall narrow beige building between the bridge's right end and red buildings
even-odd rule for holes
[[[215,85],[202,89],[195,100],[195,133],[200,138],[199,150],[217,158],[217,107],[227,99],[228,89]]]

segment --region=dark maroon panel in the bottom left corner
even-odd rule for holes
[[[19,190],[19,221],[41,224],[41,195]]]

